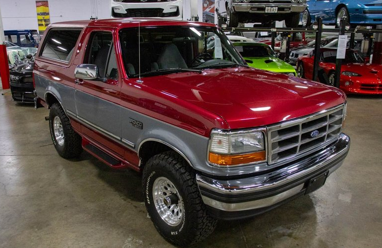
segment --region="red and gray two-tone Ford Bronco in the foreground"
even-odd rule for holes
[[[208,23],[52,24],[34,82],[58,154],[142,172],[151,220],[179,246],[316,190],[349,150],[341,90],[250,68]]]

